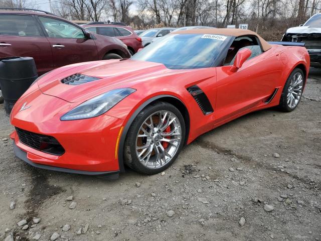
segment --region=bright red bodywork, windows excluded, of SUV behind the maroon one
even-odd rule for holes
[[[117,39],[121,40],[125,45],[127,45],[128,49],[133,51],[133,53],[137,53],[138,49],[143,48],[143,46],[141,44],[141,38],[131,29],[131,27],[112,25],[112,24],[108,24],[108,25],[104,25],[104,24],[94,24],[94,25],[86,24],[84,27],[85,27],[85,29],[86,28],[99,28],[99,27],[126,29],[131,33],[131,35],[128,35],[128,36],[117,36],[117,37],[114,37],[114,38],[117,38]],[[99,32],[97,32],[97,33],[99,34]]]

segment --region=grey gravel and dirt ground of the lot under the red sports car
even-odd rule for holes
[[[303,96],[293,112],[258,111],[199,137],[164,175],[114,181],[17,159],[2,104],[0,240],[321,240],[321,70]]]

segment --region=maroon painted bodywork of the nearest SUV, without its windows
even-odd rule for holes
[[[38,75],[42,75],[55,68],[73,63],[102,60],[107,53],[116,53],[122,58],[129,58],[130,54],[120,41],[92,34],[94,39],[53,38],[43,31],[38,17],[47,17],[71,24],[79,25],[54,15],[28,11],[0,11],[2,15],[34,16],[34,25],[41,37],[14,36],[0,34],[0,43],[10,46],[0,47],[0,58],[11,56],[33,57],[37,66]],[[84,30],[83,30],[84,31]],[[120,44],[119,44],[120,42]],[[64,48],[54,48],[53,45],[64,45]]]

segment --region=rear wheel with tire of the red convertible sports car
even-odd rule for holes
[[[279,108],[286,112],[294,110],[301,99],[303,86],[303,71],[299,68],[295,68],[284,84]]]

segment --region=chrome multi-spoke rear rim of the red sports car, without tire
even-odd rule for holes
[[[303,76],[301,73],[293,75],[290,85],[287,89],[287,105],[293,109],[299,102],[302,95]]]

